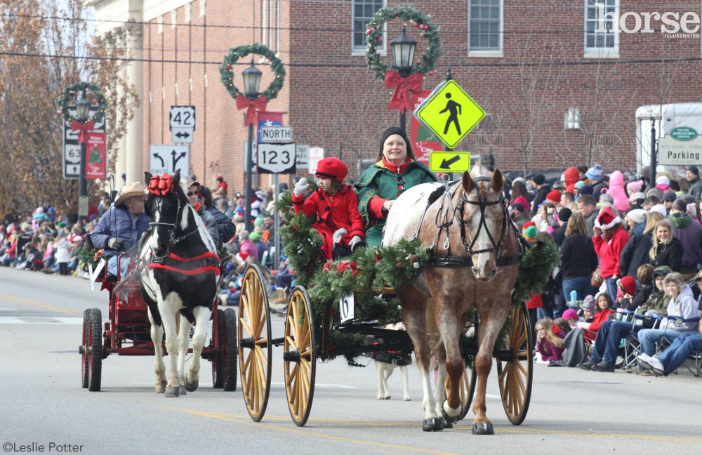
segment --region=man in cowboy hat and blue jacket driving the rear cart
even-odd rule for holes
[[[105,249],[107,272],[117,275],[117,259],[113,256],[132,249],[150,221],[144,214],[144,187],[139,182],[124,185],[91,234],[95,248]],[[128,261],[121,261],[120,277],[126,275],[127,265]]]

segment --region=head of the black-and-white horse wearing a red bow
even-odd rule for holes
[[[152,176],[145,172],[144,180],[149,189],[144,212],[151,218],[150,246],[155,257],[163,258],[168,255],[168,245],[178,226],[181,229],[187,227],[187,197],[180,183],[180,170],[172,177],[167,174]]]

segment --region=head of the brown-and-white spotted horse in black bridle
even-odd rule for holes
[[[475,179],[463,173],[463,223],[466,232],[465,246],[472,259],[472,271],[481,281],[490,281],[497,275],[497,258],[505,239],[507,218],[502,192],[502,173],[483,176],[477,166]]]

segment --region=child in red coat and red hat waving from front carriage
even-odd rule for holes
[[[358,211],[358,197],[343,184],[348,168],[340,159],[324,158],[317,164],[317,191],[305,199],[310,188],[307,178],[300,178],[293,190],[295,213],[317,216],[313,227],[324,238],[322,253],[327,259],[348,256],[364,238],[363,219]]]

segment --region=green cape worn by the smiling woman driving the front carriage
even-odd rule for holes
[[[383,241],[383,227],[385,227],[385,220],[378,220],[369,213],[368,204],[373,197],[395,200],[398,197],[399,183],[404,187],[399,192],[404,192],[413,186],[437,181],[434,173],[417,161],[410,163],[399,177],[400,180],[397,173],[387,169],[381,160],[366,169],[354,184],[359,200],[358,211],[366,225],[366,242],[369,246],[380,246],[380,242]]]

